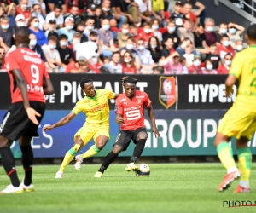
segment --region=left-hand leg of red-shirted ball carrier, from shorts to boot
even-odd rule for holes
[[[119,135],[117,135],[116,141],[113,145],[112,152],[108,153],[106,158],[104,158],[101,168],[96,172],[94,177],[101,177],[104,171],[108,169],[108,166],[112,164],[114,158],[129,147],[132,136],[132,131],[120,130]]]

